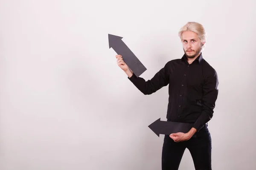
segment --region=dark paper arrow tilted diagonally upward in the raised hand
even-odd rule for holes
[[[109,48],[113,48],[117,54],[121,55],[124,62],[139,77],[147,69],[140,62],[140,60],[134,55],[134,53],[128,48],[128,46],[122,41],[123,37],[108,34]]]

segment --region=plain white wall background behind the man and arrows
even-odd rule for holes
[[[143,95],[117,66],[108,34],[151,79],[183,55],[180,27],[206,28],[218,73],[209,122],[214,170],[255,170],[253,0],[1,0],[0,169],[160,170],[168,87]],[[185,151],[180,170],[194,165]]]

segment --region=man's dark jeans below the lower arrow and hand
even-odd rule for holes
[[[183,142],[174,142],[169,135],[165,135],[162,170],[178,170],[186,148],[191,153],[195,170],[212,170],[212,139],[207,125],[204,125],[195,137]]]

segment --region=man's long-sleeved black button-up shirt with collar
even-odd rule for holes
[[[147,81],[135,74],[128,79],[145,95],[169,85],[168,121],[193,123],[200,130],[213,116],[218,76],[202,53],[191,64],[185,54],[181,59],[167,62]]]

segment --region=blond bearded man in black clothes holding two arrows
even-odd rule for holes
[[[191,153],[195,170],[212,170],[212,141],[208,122],[213,116],[218,96],[218,76],[201,52],[205,34],[200,23],[188,22],[183,26],[179,31],[183,57],[167,62],[148,81],[136,77],[122,56],[116,55],[119,67],[143,94],[152,94],[169,85],[167,121],[193,124],[188,133],[165,135],[162,170],[178,170],[186,148]]]

